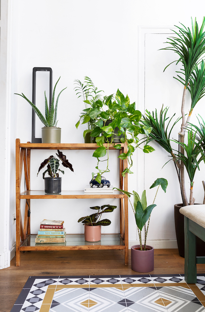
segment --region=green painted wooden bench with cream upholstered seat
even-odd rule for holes
[[[205,205],[190,205],[179,209],[184,215],[184,278],[197,282],[197,264],[205,263],[205,256],[196,256],[196,236],[205,241]]]

